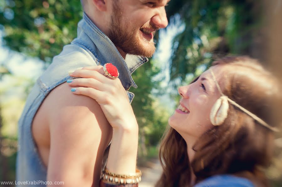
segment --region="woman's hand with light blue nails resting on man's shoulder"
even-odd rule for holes
[[[85,95],[95,99],[100,104],[107,120],[114,129],[138,129],[133,109],[128,95],[119,78],[105,76],[103,66],[78,68],[69,72],[71,77],[80,77],[68,80],[74,94]]]

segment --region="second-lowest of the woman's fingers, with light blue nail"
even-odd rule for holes
[[[100,81],[94,78],[76,78],[76,79],[69,79],[67,83],[70,86],[80,86],[80,87],[90,87],[95,88],[100,91],[104,91],[106,89],[106,85],[101,83]]]

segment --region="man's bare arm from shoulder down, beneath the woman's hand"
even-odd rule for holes
[[[65,186],[91,186],[92,182],[98,186],[102,155],[112,137],[99,104],[72,94],[67,83],[46,99],[51,139],[47,180],[64,181]]]

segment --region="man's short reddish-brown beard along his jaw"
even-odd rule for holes
[[[152,57],[156,50],[155,44],[145,38],[139,38],[139,29],[135,28],[133,23],[129,23],[128,19],[122,20],[121,8],[114,3],[109,27],[111,41],[124,53]]]

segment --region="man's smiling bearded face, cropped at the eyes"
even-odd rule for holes
[[[113,0],[109,38],[128,54],[153,56],[154,34],[168,24],[165,5],[170,0]]]

